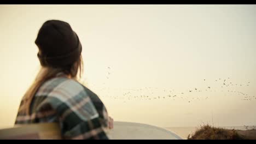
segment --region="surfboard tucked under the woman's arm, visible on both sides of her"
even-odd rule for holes
[[[106,133],[110,140],[182,140],[164,128],[142,123],[114,122],[114,129]],[[61,139],[61,133],[57,123],[15,125],[14,128],[1,129],[1,139]]]

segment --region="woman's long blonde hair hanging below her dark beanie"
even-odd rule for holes
[[[42,86],[44,82],[56,77],[56,75],[59,73],[63,73],[66,76],[69,76],[69,78],[74,79],[76,81],[79,80],[82,77],[83,73],[82,55],[80,55],[76,62],[63,68],[41,67],[39,73],[36,76],[36,79],[33,81],[30,88],[28,88],[27,92],[25,93],[22,99],[22,104],[20,106],[19,112],[23,112],[26,113],[26,115],[30,115],[30,106],[33,97],[37,93],[40,86]]]

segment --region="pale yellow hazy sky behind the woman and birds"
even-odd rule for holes
[[[256,125],[255,14],[256,5],[0,5],[0,128],[14,125],[40,68],[34,40],[53,19],[78,34],[81,82],[114,121]]]

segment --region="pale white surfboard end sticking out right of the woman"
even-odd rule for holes
[[[114,129],[109,130],[108,135],[113,140],[182,140],[164,128],[129,122],[114,122]]]

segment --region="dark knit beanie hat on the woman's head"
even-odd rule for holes
[[[42,66],[65,67],[77,61],[82,52],[77,34],[64,21],[49,20],[39,29],[35,41]]]

